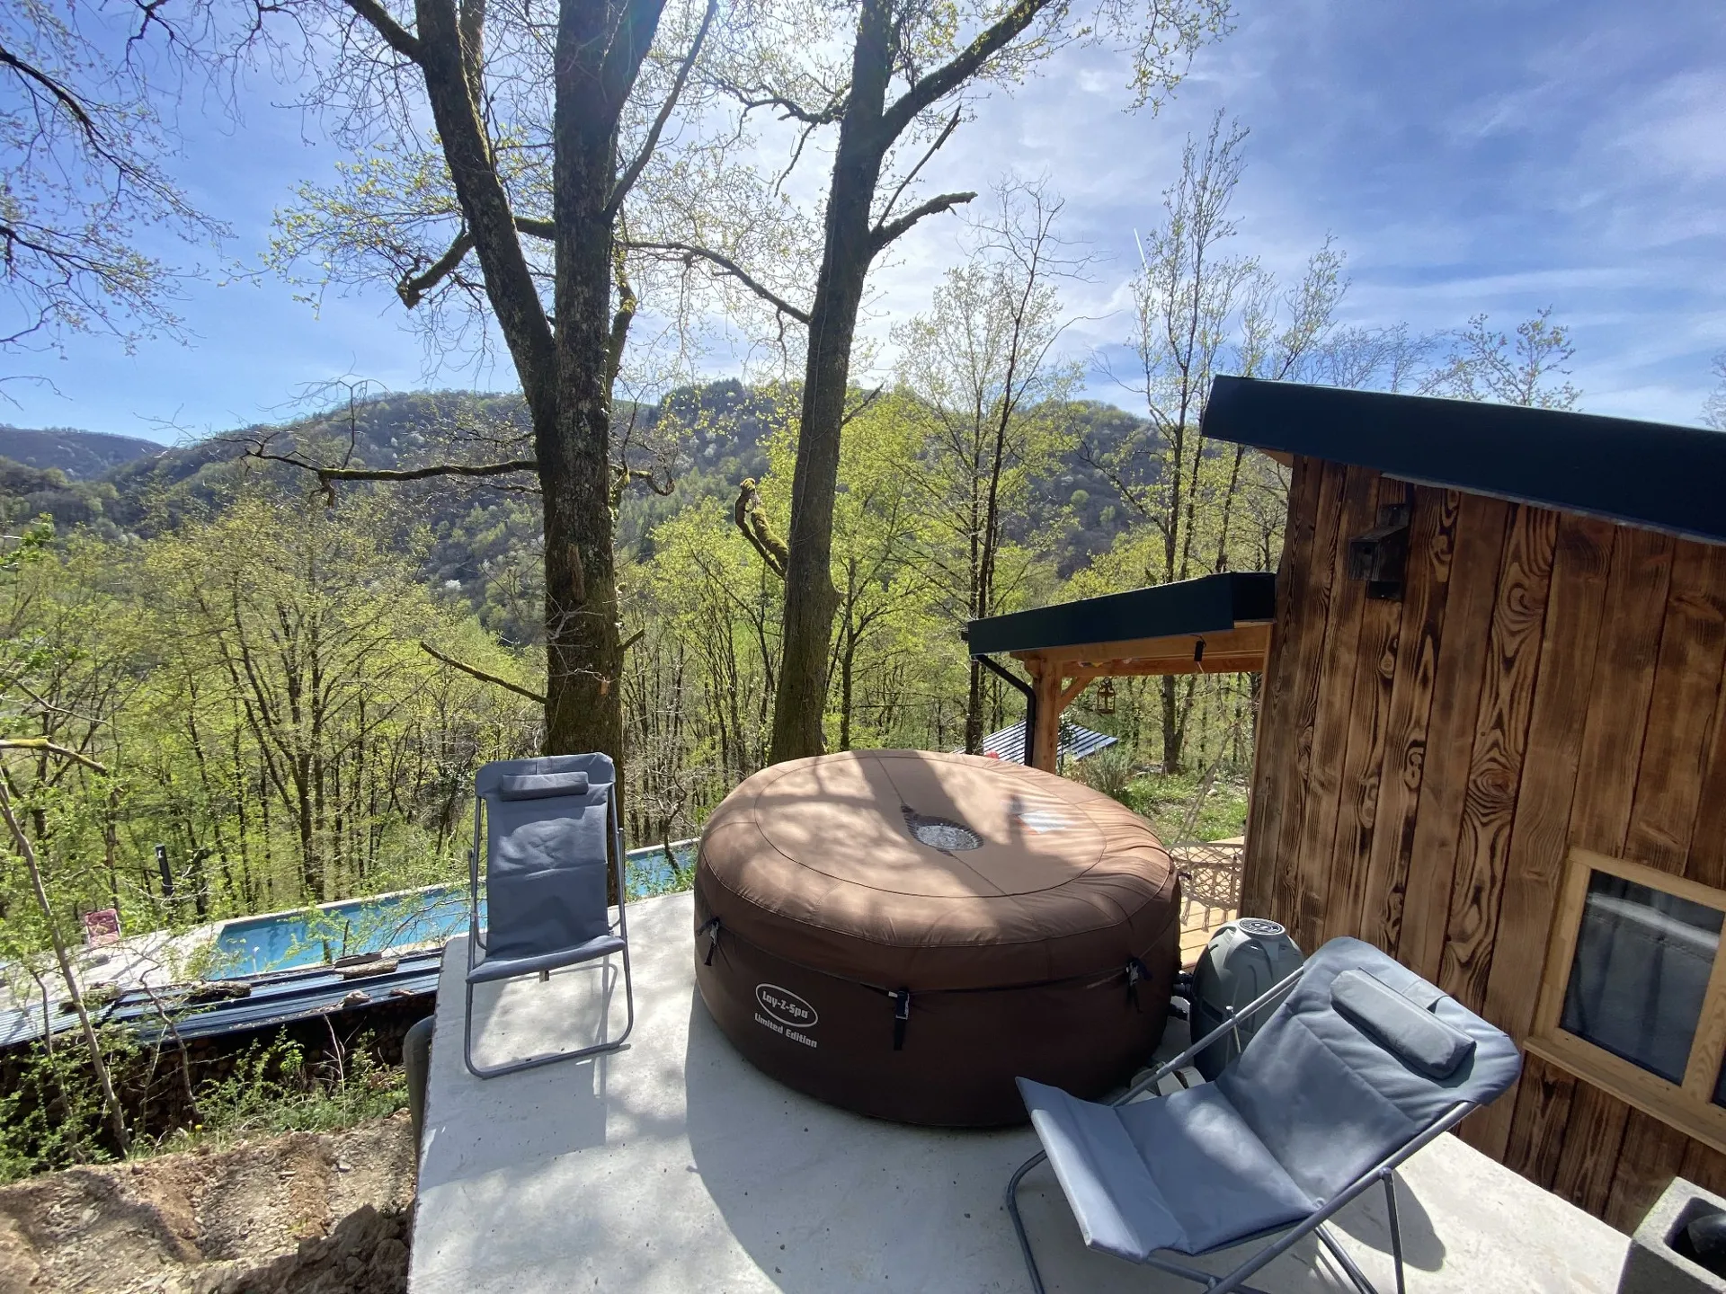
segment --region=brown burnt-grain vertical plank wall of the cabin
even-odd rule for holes
[[[1410,502],[1402,600],[1348,540]],[[1726,887],[1726,547],[1296,459],[1243,913],[1528,1033],[1571,845]],[[1726,1156],[1526,1058],[1465,1140],[1629,1230]]]

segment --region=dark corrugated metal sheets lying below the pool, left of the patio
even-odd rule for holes
[[[131,989],[98,1008],[91,1008],[91,1020],[98,1025],[131,1025],[148,1042],[167,1032],[167,1025],[162,1021],[166,1011],[180,1037],[202,1039],[252,1028],[273,1028],[331,1011],[352,1011],[392,997],[419,997],[437,992],[444,949],[404,952],[395,958],[395,963],[394,971],[359,978],[343,978],[328,966],[274,971],[245,982],[250,987],[245,997],[209,1002],[188,1001],[188,989],[197,985],[155,989],[152,990],[154,1001],[150,992]],[[224,987],[231,983],[238,982],[223,982]],[[55,1008],[50,1020],[57,1035],[78,1028],[78,1016],[72,1011]],[[0,1047],[16,1047],[38,1037],[41,1037],[40,1008],[35,1011],[0,1011]]]

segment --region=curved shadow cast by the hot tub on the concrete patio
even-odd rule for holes
[[[772,1080],[772,1097],[763,1099],[763,1077],[728,1046],[699,992],[690,994],[685,1066],[694,1172],[730,1235],[785,1294],[941,1289],[953,1282],[1018,1289],[1025,1280],[1001,1192],[1036,1149],[1029,1130],[896,1125],[825,1106]],[[1402,1182],[1396,1201],[1405,1261],[1439,1270],[1445,1247],[1426,1208]],[[1020,1206],[1049,1289],[1196,1289],[1086,1249],[1046,1168],[1025,1178]],[[1381,1190],[1350,1204],[1334,1225],[1389,1253]],[[1255,1249],[1191,1261],[1220,1275]],[[1267,1278],[1270,1289],[1351,1289],[1313,1237],[1277,1259]]]

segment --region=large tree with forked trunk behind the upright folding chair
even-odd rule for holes
[[[716,0],[278,0],[259,12],[309,28],[311,52],[333,48],[314,98],[357,155],[337,185],[304,192],[276,262],[312,261],[340,281],[383,278],[430,335],[466,311],[502,336],[528,443],[406,471],[533,473],[544,509],[544,749],[621,761],[611,540],[630,469],[613,455],[611,392],[637,302],[616,229],[683,102]],[[678,47],[668,57],[656,52],[663,28]],[[318,471],[326,488],[404,476],[257,452]]]

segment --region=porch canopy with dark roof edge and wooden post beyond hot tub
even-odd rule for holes
[[[1094,680],[1263,669],[1274,614],[1274,575],[1227,571],[973,619],[965,637],[973,659],[1025,692],[1027,763],[1053,773],[1061,711]],[[996,656],[1018,661],[1030,687]]]

